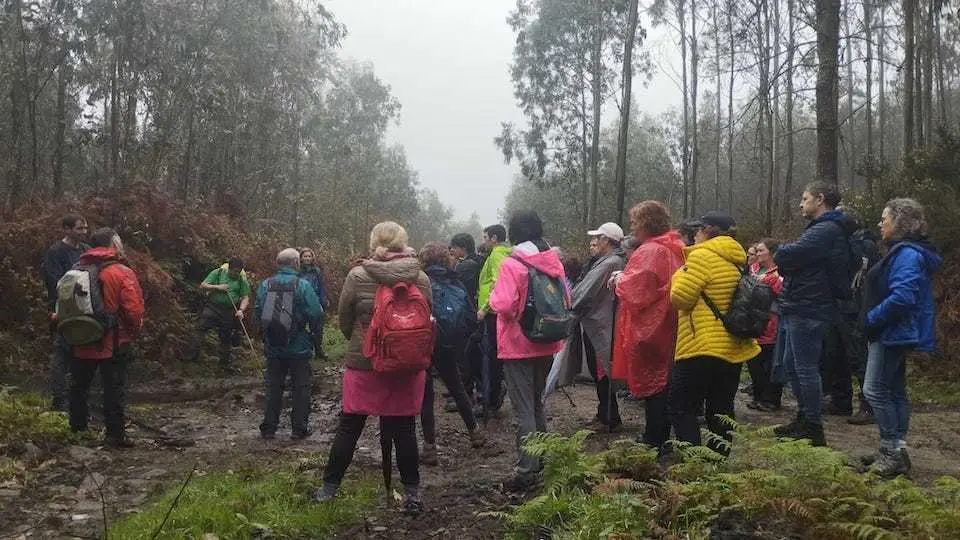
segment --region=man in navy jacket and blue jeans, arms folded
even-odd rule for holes
[[[836,323],[839,302],[850,296],[850,244],[838,211],[836,184],[807,186],[800,211],[810,220],[800,238],[777,250],[774,262],[784,278],[777,299],[780,327],[776,371],[797,397],[797,418],[776,429],[779,437],[810,439],[826,445],[823,435],[820,355],[827,328]]]

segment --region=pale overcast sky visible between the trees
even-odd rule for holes
[[[424,186],[458,217],[497,220],[515,166],[493,145],[500,122],[523,123],[509,64],[514,36],[506,23],[516,0],[329,0],[347,26],[344,57],[373,64],[402,106],[391,142],[402,144]],[[674,46],[661,31],[643,45],[661,66],[634,94],[645,112],[679,103],[670,73]],[[675,78],[675,77],[673,77]]]

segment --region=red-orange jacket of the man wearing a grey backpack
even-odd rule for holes
[[[100,271],[103,307],[117,317],[118,342],[130,343],[143,327],[143,291],[137,275],[113,248],[93,248],[80,256],[80,264],[113,262]],[[114,330],[109,330],[100,343],[73,348],[73,356],[83,360],[105,360],[113,356]]]

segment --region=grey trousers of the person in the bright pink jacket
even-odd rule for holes
[[[543,390],[547,386],[552,356],[507,360],[503,362],[503,375],[507,380],[507,392],[513,404],[517,420],[517,473],[530,474],[543,468],[540,458],[523,451],[523,438],[534,432],[547,431],[547,418],[543,412]]]

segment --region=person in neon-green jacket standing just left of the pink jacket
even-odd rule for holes
[[[500,277],[500,265],[510,256],[513,248],[507,244],[507,229],[503,225],[491,225],[483,230],[483,243],[489,251],[483,268],[480,269],[480,282],[477,289],[477,320],[484,324],[485,369],[488,376],[481,383],[481,407],[477,416],[500,410],[506,389],[502,387],[503,368],[497,358],[497,314],[490,309],[490,293]]]

